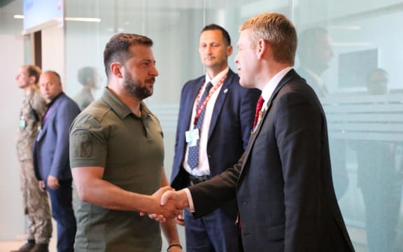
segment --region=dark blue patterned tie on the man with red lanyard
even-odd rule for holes
[[[208,92],[210,92],[211,87],[213,84],[210,82],[207,83],[206,88],[204,89],[203,94],[201,94],[200,102],[197,104],[196,111],[199,110],[201,104],[203,104],[204,100],[206,99]],[[189,146],[188,150],[188,164],[190,169],[195,169],[197,165],[199,165],[199,141],[201,135],[201,125],[203,124],[204,112],[206,112],[206,106],[204,106],[203,111],[201,111],[199,118],[197,119],[197,123],[195,125],[195,129],[199,129],[199,139],[196,141],[195,146]]]

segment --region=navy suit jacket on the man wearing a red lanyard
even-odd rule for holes
[[[189,130],[193,104],[204,81],[205,76],[189,80],[182,89],[171,174],[171,186],[176,190],[189,186],[188,173],[182,167],[187,148],[185,132]],[[211,176],[232,167],[245,151],[259,95],[260,90],[241,87],[238,75],[229,69],[215,101],[208,130],[207,155]],[[234,218],[237,215],[234,201],[222,210]]]

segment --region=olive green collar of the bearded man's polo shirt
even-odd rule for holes
[[[119,116],[120,119],[124,119],[130,114],[134,115],[129,107],[121,102],[118,97],[115,97],[115,95],[111,92],[111,90],[108,89],[108,87],[105,87],[104,93],[102,94],[102,99],[104,100],[104,102],[106,102],[106,104],[108,104],[108,106],[111,107],[111,109]],[[147,108],[146,104],[143,101],[140,102],[140,111],[142,116],[149,116],[151,114],[151,111]]]

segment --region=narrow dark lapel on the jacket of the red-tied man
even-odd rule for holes
[[[288,82],[290,82],[290,80],[291,80],[292,78],[295,78],[295,77],[297,77],[297,73],[294,71],[294,69],[291,69],[291,70],[290,70],[287,74],[285,74],[285,76],[280,80],[280,82],[278,83],[276,89],[274,89],[273,94],[271,94],[271,97],[270,97],[269,101],[267,102],[267,108],[264,110],[264,112],[263,112],[263,114],[262,114],[262,120],[261,120],[261,122],[259,123],[259,125],[257,125],[257,130],[256,130],[256,132],[255,132],[254,134],[250,134],[250,139],[249,139],[249,143],[248,143],[248,148],[246,148],[246,151],[245,151],[245,155],[244,155],[244,158],[243,158],[244,161],[243,161],[243,164],[242,164],[241,172],[240,172],[240,174],[239,174],[239,178],[241,178],[241,175],[243,174],[243,171],[245,170],[246,163],[248,163],[248,160],[249,160],[250,152],[252,151],[253,145],[255,144],[255,141],[256,141],[257,137],[259,136],[259,134],[260,134],[260,130],[262,129],[262,125],[264,125],[264,124],[266,124],[266,123],[269,123],[269,122],[266,122],[266,118],[267,118],[267,114],[269,114],[269,111],[270,111],[270,109],[271,109],[271,105],[273,104],[274,98],[277,96],[277,94],[278,94],[278,92],[281,90],[281,88],[283,88],[283,86],[284,86],[285,84],[287,84]]]

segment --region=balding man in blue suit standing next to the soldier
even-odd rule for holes
[[[71,198],[69,127],[80,109],[64,94],[58,73],[43,72],[39,88],[49,104],[34,144],[35,173],[41,190],[50,195],[52,216],[57,222],[57,251],[73,251],[76,219]]]

